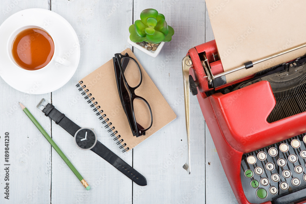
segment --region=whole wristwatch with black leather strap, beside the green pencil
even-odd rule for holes
[[[91,128],[81,128],[71,121],[65,114],[59,112],[44,98],[39,102],[37,108],[49,116],[55,124],[60,125],[74,137],[74,143],[82,150],[91,150],[105,159],[116,169],[140,186],[146,186],[146,178],[133,169],[129,164],[118,157],[114,152],[105,147],[97,140],[97,135]]]

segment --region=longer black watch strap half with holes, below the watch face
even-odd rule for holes
[[[143,175],[137,172],[133,167],[123,161],[120,157],[118,157],[114,152],[105,147],[99,141],[97,141],[96,145],[92,147],[91,150],[108,161],[111,165],[113,165],[116,169],[118,169],[121,173],[134,181],[136,184],[140,186],[147,185],[147,179]]]

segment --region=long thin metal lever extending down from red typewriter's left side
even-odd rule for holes
[[[185,119],[186,119],[186,131],[188,142],[188,159],[183,168],[190,174],[190,131],[189,131],[189,68],[192,66],[192,61],[189,56],[186,56],[182,60],[183,80],[184,80],[184,95],[185,95]]]

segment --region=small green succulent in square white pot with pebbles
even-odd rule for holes
[[[140,13],[140,20],[129,27],[129,32],[128,41],[132,46],[156,57],[164,42],[171,41],[174,29],[167,24],[163,14],[155,9],[145,9]]]

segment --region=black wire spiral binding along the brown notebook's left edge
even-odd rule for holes
[[[101,108],[101,106],[96,106],[96,105],[98,104],[98,102],[97,102],[97,101],[96,101],[96,102],[93,102],[93,101],[95,100],[95,97],[90,98],[90,97],[92,96],[92,94],[91,94],[91,93],[88,93],[88,94],[87,94],[87,92],[89,92],[89,90],[86,89],[86,85],[81,86],[82,83],[83,83],[83,81],[80,81],[79,83],[76,84],[76,87],[77,87],[77,88],[80,87],[78,90],[79,90],[79,91],[82,91],[82,92],[81,92],[81,95],[82,95],[82,96],[85,95],[85,97],[84,97],[85,100],[89,99],[89,100],[87,101],[87,103],[88,103],[88,104],[91,103],[91,105],[90,105],[91,108],[92,108],[92,107],[95,107],[95,108],[93,109],[93,112],[98,111],[98,112],[96,113],[96,116],[100,116],[100,117],[99,117],[99,120],[103,120],[103,121],[102,121],[102,124],[106,124],[106,125],[104,126],[104,128],[110,128],[107,132],[109,132],[109,133],[111,132],[111,134],[110,134],[111,137],[115,136],[114,141],[115,141],[115,140],[118,140],[118,142],[117,142],[116,144],[117,144],[117,145],[121,144],[121,143],[123,142],[123,139],[120,139],[121,135],[116,135],[116,134],[118,134],[118,131],[117,131],[117,130],[114,131],[114,129],[115,129],[114,126],[111,127],[112,123],[109,122],[110,119],[109,119],[108,117],[106,117],[106,114],[104,113],[104,114],[102,115],[103,110],[98,110],[98,109]],[[109,122],[109,123],[107,123],[107,122]],[[127,150],[129,150],[129,147],[126,147],[126,148],[125,148],[125,146],[126,146],[126,143],[123,143],[121,146],[119,146],[119,149],[122,149],[122,148],[123,148],[122,152],[126,152]]]

